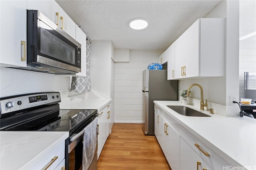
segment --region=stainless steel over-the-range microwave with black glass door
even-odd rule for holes
[[[38,10],[27,10],[27,67],[21,69],[81,72],[81,44]]]

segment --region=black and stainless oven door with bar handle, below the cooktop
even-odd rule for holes
[[[68,139],[66,139],[66,170],[97,170],[97,151],[98,151],[98,141],[96,140],[96,148],[94,148],[94,153],[84,152],[84,129],[97,118],[97,114],[90,119],[90,121],[84,123],[84,128],[80,128],[82,130],[79,133],[75,133],[71,135]],[[97,129],[97,126],[95,127]],[[97,136],[97,131],[96,134]],[[88,143],[90,145],[90,143]],[[83,156],[93,155],[92,160],[87,162],[86,165],[83,164]],[[83,168],[88,167],[87,169]]]

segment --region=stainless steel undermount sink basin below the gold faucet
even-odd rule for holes
[[[190,107],[186,106],[167,106],[177,113],[184,115],[184,116],[196,116],[196,117],[210,117],[209,115],[206,115],[200,111],[196,111],[194,109],[191,109]]]

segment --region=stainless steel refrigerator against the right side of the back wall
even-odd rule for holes
[[[154,135],[154,100],[178,100],[178,81],[167,80],[167,70],[144,70],[145,135]]]

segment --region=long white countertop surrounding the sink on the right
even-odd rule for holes
[[[233,166],[256,169],[256,119],[225,117],[210,114],[211,117],[190,117],[180,115],[166,105],[181,105],[180,101],[154,101],[190,133],[203,141]],[[186,105],[200,111],[200,106]]]

